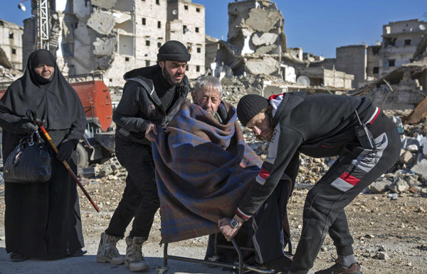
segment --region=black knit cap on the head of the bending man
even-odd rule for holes
[[[241,98],[237,104],[237,117],[243,127],[246,127],[249,121],[261,110],[268,107],[268,99],[256,94],[248,94]]]

